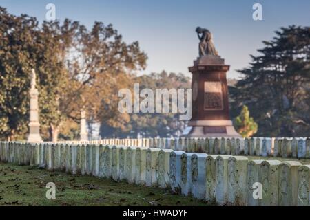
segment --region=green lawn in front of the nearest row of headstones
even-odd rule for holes
[[[56,199],[46,199],[48,182]],[[0,206],[210,206],[205,201],[91,176],[0,163]]]

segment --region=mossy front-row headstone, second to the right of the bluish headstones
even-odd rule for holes
[[[221,206],[228,199],[228,159],[229,155],[216,157],[216,202]]]

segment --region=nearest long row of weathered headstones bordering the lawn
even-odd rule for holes
[[[310,206],[310,165],[171,149],[0,142],[0,160],[170,188],[231,206]],[[255,183],[262,197],[254,197]]]

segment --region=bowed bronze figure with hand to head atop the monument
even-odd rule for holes
[[[196,32],[198,35],[198,39],[200,40],[199,56],[205,56],[205,55],[218,56],[218,52],[214,47],[211,32],[205,28],[200,27],[196,28]]]

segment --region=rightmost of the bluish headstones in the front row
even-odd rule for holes
[[[192,155],[192,196],[196,199],[205,199],[206,162],[207,154],[194,153]]]

